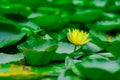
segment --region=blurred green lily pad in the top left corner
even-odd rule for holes
[[[1,4],[0,14],[1,15],[19,14],[24,17],[27,17],[31,14],[31,9],[29,6],[22,5],[22,4]]]

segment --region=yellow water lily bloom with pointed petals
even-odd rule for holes
[[[70,30],[67,34],[68,40],[76,46],[83,45],[90,41],[89,33],[79,31],[78,29]]]

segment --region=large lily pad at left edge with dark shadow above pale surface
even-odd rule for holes
[[[0,26],[0,48],[20,41],[25,35],[17,25],[9,20],[1,20]]]

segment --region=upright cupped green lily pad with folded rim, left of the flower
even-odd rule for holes
[[[54,40],[33,37],[20,44],[18,49],[24,53],[27,64],[45,65],[51,61],[57,44]]]

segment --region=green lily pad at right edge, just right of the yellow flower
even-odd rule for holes
[[[93,35],[94,42],[103,49],[106,49],[117,58],[120,57],[120,38],[112,39],[111,42],[108,40],[108,36],[102,32],[96,32],[91,30],[91,34]]]

